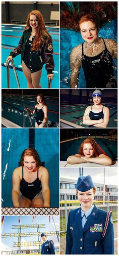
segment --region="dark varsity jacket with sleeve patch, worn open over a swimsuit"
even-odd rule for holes
[[[26,43],[30,37],[31,34],[31,28],[24,30],[23,35],[19,41],[18,47],[16,47],[10,55],[12,57],[16,57],[17,55],[21,54],[21,61],[23,60],[24,53],[25,53],[25,47]],[[46,36],[43,36],[44,40],[46,40]],[[33,43],[34,37],[32,39]],[[49,39],[47,43],[42,40],[41,49],[37,51],[31,51],[30,52],[30,70],[31,73],[34,72],[36,67],[39,68],[39,70],[42,68],[43,64],[45,63],[45,69],[47,70],[47,74],[51,74],[52,70],[54,69],[54,61],[53,61],[53,47],[52,47],[52,39],[49,35]],[[32,48],[31,43],[31,48]]]

